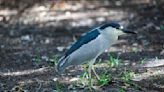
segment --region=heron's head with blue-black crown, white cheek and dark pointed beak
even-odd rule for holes
[[[99,28],[100,30],[108,30],[110,33],[113,33],[113,35],[123,35],[125,33],[129,34],[136,34],[134,31],[128,30],[124,28],[122,25],[120,25],[117,22],[110,22],[106,23]]]

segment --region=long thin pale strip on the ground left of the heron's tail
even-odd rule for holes
[[[48,67],[43,67],[39,69],[30,69],[30,70],[17,71],[17,72],[7,72],[7,73],[0,72],[0,75],[1,76],[20,76],[20,75],[29,75],[29,74],[33,74],[37,72],[43,73],[48,70],[49,70]]]

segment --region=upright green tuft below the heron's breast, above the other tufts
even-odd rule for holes
[[[113,58],[112,55],[109,55],[109,61],[108,61],[108,65],[109,67],[115,67],[118,66],[120,64],[120,60],[117,58]]]

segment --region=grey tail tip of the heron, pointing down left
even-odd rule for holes
[[[57,68],[56,68],[58,73],[63,73],[64,72],[65,68],[67,67],[66,66],[67,60],[68,60],[68,57],[65,57],[65,56],[63,56],[59,59],[59,62],[57,64]]]

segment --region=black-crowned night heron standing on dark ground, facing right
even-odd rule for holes
[[[112,44],[116,43],[118,36],[124,33],[135,32],[124,29],[123,26],[116,22],[106,23],[91,30],[77,40],[64,56],[60,58],[57,71],[62,73],[69,66],[89,63],[90,76],[91,69],[93,69],[96,77],[98,77],[92,67],[96,58]]]

